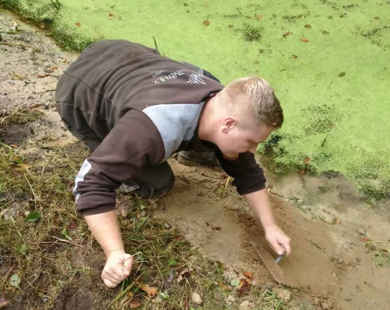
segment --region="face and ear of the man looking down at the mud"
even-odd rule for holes
[[[273,130],[266,125],[240,124],[233,117],[227,118],[218,132],[217,146],[226,158],[234,160],[239,153],[255,153],[257,145],[266,141]]]

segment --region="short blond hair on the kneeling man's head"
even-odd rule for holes
[[[280,102],[271,85],[262,78],[251,76],[234,80],[220,91],[220,95],[225,107],[249,112],[257,125],[265,123],[278,129],[283,124]]]

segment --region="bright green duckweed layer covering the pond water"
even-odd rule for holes
[[[155,37],[162,54],[222,83],[260,75],[285,111],[282,129],[258,149],[272,154],[274,172],[337,171],[370,197],[388,196],[390,2],[60,2],[59,10],[43,0],[0,5],[50,24],[79,51],[103,38],[153,47]]]

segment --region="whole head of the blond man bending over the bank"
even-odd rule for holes
[[[272,87],[257,76],[237,79],[212,103],[214,142],[231,159],[256,151],[258,143],[282,126],[283,110]]]

